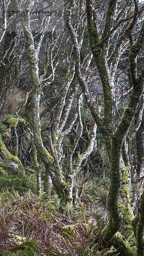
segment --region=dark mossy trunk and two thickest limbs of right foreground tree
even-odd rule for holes
[[[108,196],[108,208],[109,208],[109,222],[107,226],[102,231],[102,237],[105,242],[108,244],[114,244],[115,248],[118,248],[118,251],[121,255],[135,255],[135,253],[130,248],[130,245],[124,240],[121,234],[118,233],[118,230],[121,226],[122,221],[122,212],[128,212],[125,217],[127,218],[127,230],[130,233],[130,227],[128,227],[129,221],[132,221],[132,212],[130,211],[129,205],[129,192],[127,190],[127,172],[121,173],[120,160],[121,160],[121,149],[124,141],[124,137],[126,136],[130,125],[132,123],[132,119],[135,115],[135,111],[140,100],[142,90],[143,90],[143,77],[138,76],[137,65],[135,58],[143,45],[144,39],[144,24],[141,32],[139,34],[138,40],[135,44],[130,46],[129,52],[129,70],[130,70],[130,78],[133,86],[132,93],[128,102],[127,107],[124,109],[124,113],[121,117],[121,121],[118,124],[118,128],[112,134],[112,93],[111,93],[111,81],[109,80],[108,68],[107,68],[107,60],[106,58],[106,46],[107,39],[104,38],[109,33],[110,28],[112,27],[113,15],[115,12],[116,1],[109,0],[108,11],[106,17],[106,24],[104,28],[104,34],[102,35],[102,40],[97,32],[97,28],[95,25],[95,20],[93,18],[93,8],[92,1],[86,0],[86,14],[87,14],[87,26],[89,32],[89,43],[92,49],[92,53],[95,58],[95,64],[98,69],[99,76],[101,78],[101,83],[103,85],[104,90],[104,128],[102,128],[102,133],[104,135],[105,143],[107,146],[107,151],[109,154],[110,160],[110,169],[111,169],[111,185],[109,189]],[[91,111],[92,113],[92,111]],[[93,115],[95,118],[95,116]],[[96,119],[95,119],[95,122]],[[111,139],[112,138],[112,139]],[[122,203],[124,204],[124,208],[121,208],[121,205],[118,202],[118,197],[122,195]],[[129,216],[130,214],[130,216]],[[115,240],[116,238],[116,240]],[[118,245],[118,246],[117,246]]]

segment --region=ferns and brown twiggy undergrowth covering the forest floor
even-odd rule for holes
[[[81,207],[69,218],[59,212],[55,194],[44,200],[30,190],[22,195],[14,189],[1,191],[0,255],[102,255],[101,230],[107,222],[103,188],[98,184],[96,189],[93,182],[86,185]],[[88,203],[88,194],[95,199],[93,203]]]

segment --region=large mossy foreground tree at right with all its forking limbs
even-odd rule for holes
[[[120,19],[121,16],[117,15],[116,7],[121,8],[121,3],[117,1],[109,0],[108,9],[106,14],[105,26],[102,34],[98,33],[96,14],[94,11],[93,3],[91,0],[86,1],[86,14],[87,14],[87,26],[89,32],[89,43],[92,50],[92,54],[95,59],[95,64],[101,79],[101,84],[104,91],[104,118],[100,118],[98,113],[95,111],[95,107],[92,104],[92,100],[89,97],[89,91],[83,76],[81,75],[80,69],[80,50],[78,45],[77,34],[71,24],[71,9],[73,3],[70,2],[68,7],[68,14],[66,19],[66,25],[69,29],[74,49],[75,49],[75,61],[76,61],[76,75],[78,81],[83,89],[86,102],[95,119],[96,124],[101,129],[107,152],[109,155],[110,169],[111,169],[111,185],[109,189],[108,208],[109,208],[109,222],[107,227],[102,231],[102,237],[108,244],[115,244],[122,255],[135,255],[135,252],[125,242],[124,238],[118,233],[121,226],[121,214],[125,215],[125,211],[128,212],[129,217],[132,220],[132,213],[129,206],[129,193],[128,193],[128,169],[129,166],[125,166],[124,170],[121,166],[121,149],[124,142],[125,136],[130,129],[132,119],[135,115],[137,105],[142,97],[143,93],[143,71],[138,73],[137,55],[143,47],[144,41],[144,23],[142,24],[141,30],[139,31],[138,38],[134,41],[132,36],[132,29],[138,19],[138,1],[135,1],[135,12],[131,18],[130,25],[124,23],[124,27],[127,28],[127,36],[130,41],[130,50],[128,55],[129,60],[129,72],[130,82],[132,86],[131,96],[129,102],[124,109],[124,113],[121,116],[119,123],[114,123],[113,118],[115,116],[115,105],[117,104],[115,99],[115,71],[118,67],[121,54],[123,53],[124,45],[128,42],[124,39],[126,32],[121,32],[118,29],[119,25],[125,20],[129,20],[130,16],[126,16],[124,19]],[[127,3],[124,8],[120,9],[121,15],[126,12]],[[119,13],[119,14],[120,14]],[[116,16],[117,15],[117,16]],[[121,24],[122,25],[122,24]],[[121,26],[122,28],[122,26]],[[113,44],[113,39],[118,38],[117,44],[114,49],[110,47]],[[112,51],[113,50],[113,51]],[[126,48],[124,48],[126,50]],[[120,54],[119,54],[120,52]],[[117,53],[117,55],[116,55]],[[116,55],[116,57],[115,57]],[[116,59],[116,62],[114,60]],[[113,69],[113,67],[115,67]],[[122,177],[122,179],[121,179]],[[125,202],[124,210],[118,200],[119,195]],[[126,198],[125,198],[126,197]],[[127,210],[126,210],[127,209]],[[125,218],[127,216],[125,215]],[[130,223],[130,218],[128,222]],[[127,223],[128,224],[128,223]],[[128,227],[127,227],[128,228]],[[120,246],[121,244],[121,246]]]

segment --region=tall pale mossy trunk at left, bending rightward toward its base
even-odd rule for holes
[[[37,44],[37,47],[35,48],[34,38],[32,35],[31,26],[30,26],[30,17],[31,17],[30,10],[32,8],[32,4],[34,4],[34,2],[29,3],[29,6],[27,6],[28,15],[27,17],[22,18],[22,24],[23,24],[23,31],[26,36],[26,50],[27,50],[27,55],[28,55],[29,65],[30,65],[30,76],[31,76],[31,86],[32,86],[31,110],[32,110],[32,126],[33,126],[34,144],[37,149],[37,154],[40,156],[41,160],[45,164],[46,169],[49,171],[49,175],[52,178],[52,183],[55,186],[55,189],[59,198],[63,198],[65,194],[63,190],[64,185],[62,184],[58,176],[55,174],[55,172],[53,172],[50,169],[54,159],[52,155],[44,147],[43,141],[41,138],[41,132],[40,132],[39,106],[40,106],[40,94],[41,94],[41,81],[39,79],[38,55],[39,55],[40,46],[43,40],[44,31],[42,33],[42,36],[40,37],[40,41]]]

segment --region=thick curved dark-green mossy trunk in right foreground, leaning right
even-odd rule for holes
[[[130,49],[130,55],[132,54]],[[131,62],[130,62],[131,65]],[[121,213],[118,207],[118,195],[121,189],[121,171],[120,171],[120,157],[121,148],[124,140],[124,136],[127,134],[130,128],[132,118],[135,114],[137,104],[142,94],[143,83],[139,77],[133,83],[133,90],[127,107],[124,109],[121,122],[118,125],[117,130],[112,139],[112,152],[111,152],[111,186],[109,189],[108,207],[109,207],[109,223],[103,230],[103,238],[105,241],[109,241],[121,226]]]

